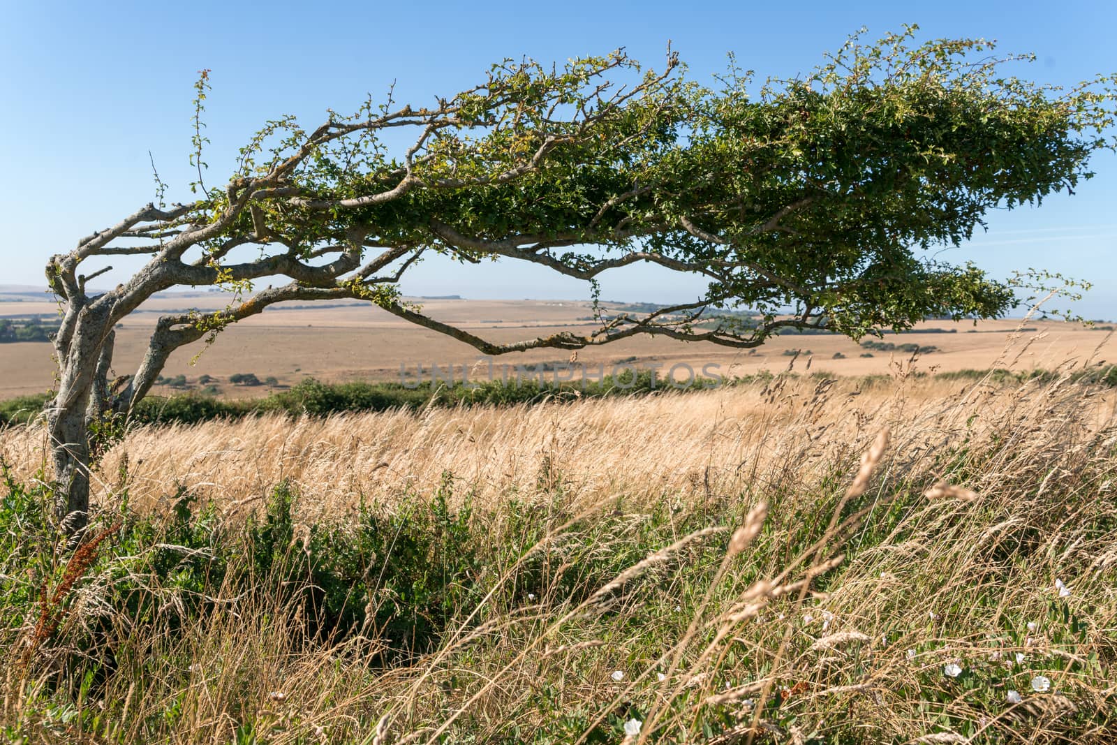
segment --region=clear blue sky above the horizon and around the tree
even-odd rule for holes
[[[0,284],[42,285],[50,254],[153,197],[149,151],[170,201],[187,200],[192,84],[212,69],[208,178],[266,118],[321,123],[394,80],[397,98],[426,103],[481,79],[504,57],[543,61],[626,47],[658,65],[670,40],[690,75],[709,82],[734,51],[745,68],[792,76],[867,26],[877,38],[918,23],[920,39],[996,39],[1034,52],[1019,73],[1072,84],[1117,71],[1117,3],[1076,2],[0,2]],[[990,230],[944,257],[996,276],[1041,267],[1088,279],[1077,309],[1117,317],[1117,156],[1095,157],[1094,180],[1039,209],[997,211]],[[115,264],[118,271],[126,268]],[[112,275],[109,275],[112,277]],[[120,275],[115,277],[118,280]],[[113,279],[106,277],[106,284]],[[656,271],[607,273],[607,299],[693,299],[697,285]],[[403,285],[416,295],[586,297],[542,268],[493,271],[430,261]]]

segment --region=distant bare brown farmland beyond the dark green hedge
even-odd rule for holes
[[[30,292],[4,294],[0,290],[0,318],[57,314],[57,306],[40,297],[46,296]],[[191,307],[217,308],[225,303],[223,298],[213,293],[183,293],[153,298],[117,329],[116,373],[123,375],[135,371],[160,313]],[[590,329],[594,325],[584,319],[592,314],[592,306],[580,300],[418,302],[424,312],[439,319],[460,325],[479,336],[504,342],[534,338],[562,328]],[[928,372],[994,364],[1016,370],[1052,369],[1068,361],[1082,363],[1087,360],[1117,359],[1117,342],[1108,331],[1078,324],[1030,321],[1027,323],[1028,331],[1010,344],[1020,326],[1019,319],[977,325],[972,322],[932,321],[913,333],[888,334],[882,341],[938,347],[938,351],[916,362],[917,369]],[[577,362],[591,371],[604,365],[605,373],[618,363],[636,367],[658,365],[662,371],[676,364],[687,364],[699,373],[703,366],[712,365],[710,370],[716,374],[729,376],[786,369],[792,356],[785,352],[792,350],[804,352],[796,361],[796,369],[805,370],[809,360],[812,371],[823,370],[841,375],[887,373],[890,365],[909,356],[903,352],[869,351],[848,338],[829,335],[786,335],[755,351],[643,337],[580,351]],[[199,352],[202,352],[200,356]],[[872,356],[861,356],[865,354]],[[506,355],[494,364],[499,376],[504,365],[508,366],[507,374],[514,375],[515,365],[566,361],[565,352],[537,350]],[[328,382],[399,380],[401,365],[409,378],[413,378],[419,365],[428,370],[431,365],[439,365],[445,370],[450,364],[457,366],[459,375],[461,366],[470,369],[475,379],[488,374],[487,362],[467,344],[411,326],[367,304],[288,304],[231,327],[209,348],[199,344],[180,350],[171,357],[164,375],[183,374],[191,385],[197,385],[199,376],[211,375],[219,380],[221,394],[233,398],[268,392],[266,386],[222,384],[235,373],[254,373],[261,380],[274,376],[280,385],[290,385],[307,375]],[[49,389],[54,371],[49,344],[0,345],[0,399]],[[679,369],[676,374],[685,376],[686,372]],[[156,389],[156,392],[165,390]]]

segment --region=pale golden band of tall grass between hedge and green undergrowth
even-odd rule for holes
[[[1090,392],[1062,416],[1099,429],[1114,395]],[[1037,414],[1024,389],[963,381],[906,382],[783,379],[706,393],[665,392],[509,408],[432,408],[281,416],[134,429],[94,476],[94,502],[107,502],[127,466],[137,504],[154,505],[180,486],[235,507],[254,504],[283,479],[316,516],[361,498],[427,491],[443,471],[483,502],[529,493],[540,478],[561,478],[589,504],[755,489],[757,479],[810,483],[836,459],[860,451],[880,429],[896,433],[906,467],[925,468],[932,450],[960,433],[984,437]],[[973,421],[967,420],[973,418]],[[1052,419],[1046,422],[1058,426]],[[0,456],[17,474],[42,466],[42,433],[9,430]]]

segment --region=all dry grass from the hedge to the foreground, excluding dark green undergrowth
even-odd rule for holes
[[[374,630],[306,638],[300,605],[217,586],[188,633],[144,641],[164,679],[105,684],[115,714],[97,736],[218,743],[251,723],[275,743],[1110,743],[1115,407],[1069,381],[899,375],[137,429],[101,465],[103,505],[126,487],[159,512],[182,485],[237,522],[289,479],[312,525],[429,498],[450,472],[496,563],[441,643],[392,667],[369,651],[390,643]],[[0,437],[32,478],[40,432]],[[510,500],[543,527],[509,557]],[[9,676],[11,732],[44,717],[29,701],[58,675]]]

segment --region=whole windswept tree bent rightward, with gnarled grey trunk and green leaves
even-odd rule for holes
[[[1003,74],[974,40],[911,44],[913,29],[756,86],[731,71],[707,87],[675,55],[642,71],[622,52],[545,68],[495,65],[478,86],[427,106],[366,102],[306,131],[269,122],[220,188],[149,203],[54,256],[65,314],[48,404],[57,514],[88,509],[88,431],[126,416],[176,348],[283,300],[365,299],[486,354],[577,350],[638,334],[736,347],[781,328],[859,338],[928,315],[994,317],[1013,288],[924,249],[968,238],[987,210],[1071,190],[1108,146],[1113,98],[1099,78],[1071,90]],[[199,82],[198,113],[208,87]],[[1101,92],[1099,92],[1101,90]],[[398,153],[389,132],[413,133]],[[398,137],[388,137],[393,142]],[[593,281],[637,264],[698,275],[690,303],[503,344],[401,298],[424,255],[528,261]],[[101,257],[150,257],[89,294]],[[84,274],[85,273],[85,274]],[[213,286],[235,300],[162,316],[140,367],[109,386],[113,328],[153,293]],[[742,315],[722,308],[747,307]]]

